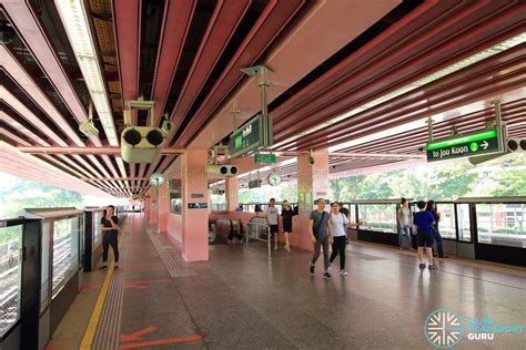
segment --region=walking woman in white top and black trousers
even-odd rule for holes
[[[330,228],[333,236],[333,253],[328,259],[328,266],[333,264],[340,254],[340,275],[347,276],[345,270],[345,248],[347,246],[346,227],[357,226],[358,224],[351,224],[348,218],[340,212],[340,204],[337,202],[331,205]]]

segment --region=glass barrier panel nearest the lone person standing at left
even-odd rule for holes
[[[79,217],[53,223],[53,298],[79,269]]]

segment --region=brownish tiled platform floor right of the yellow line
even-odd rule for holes
[[[322,259],[316,274],[308,274],[306,251],[281,249],[269,260],[262,244],[218,245],[210,247],[209,262],[185,264],[161,235],[161,249],[179,268],[195,272],[172,278],[142,216],[130,219],[125,264],[118,271],[125,274],[121,349],[432,349],[423,325],[439,308],[464,319],[526,326],[524,270],[457,259],[439,261],[436,271],[419,270],[414,254],[354,244],[347,251],[350,276],[334,272],[324,280]],[[67,332],[64,327],[59,330]],[[51,344],[69,348],[55,338]],[[463,339],[456,348],[525,344],[522,332],[492,341]]]

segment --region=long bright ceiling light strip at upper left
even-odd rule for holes
[[[95,106],[111,146],[119,146],[113,113],[108,102],[108,94],[102,79],[102,70],[91,34],[90,22],[82,0],[55,0],[62,24],[73,48],[85,85]]]

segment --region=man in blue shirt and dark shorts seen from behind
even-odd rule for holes
[[[433,244],[435,243],[435,229],[433,225],[435,224],[435,217],[429,212],[426,212],[426,203],[419,200],[416,206],[419,212],[415,213],[413,217],[413,224],[416,226],[416,243],[418,245],[418,250],[416,255],[419,260],[419,268],[425,268],[424,264],[424,248],[427,255],[427,261],[429,262],[429,270],[435,270],[436,266],[433,264]]]

